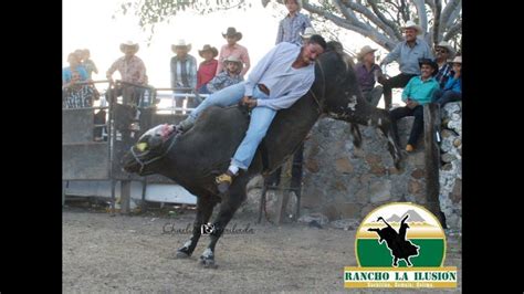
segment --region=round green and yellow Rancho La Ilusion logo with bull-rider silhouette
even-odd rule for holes
[[[355,238],[358,266],[345,287],[457,287],[457,267],[443,266],[446,234],[426,208],[389,203],[369,212]]]

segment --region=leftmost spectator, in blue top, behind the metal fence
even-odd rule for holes
[[[75,53],[67,55],[70,66],[62,71],[62,107],[63,108],[82,108],[92,107],[94,98],[94,90],[92,85],[78,84],[86,82],[87,72],[80,64]]]

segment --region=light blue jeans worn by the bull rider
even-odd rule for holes
[[[197,118],[198,115],[211,105],[217,106],[230,106],[239,103],[244,96],[244,84],[239,83],[224,87],[218,92],[211,94],[205,99],[191,114],[192,118]],[[268,95],[262,93],[258,87],[253,90],[253,98],[266,99]],[[265,133],[270,128],[271,122],[276,115],[276,111],[264,106],[256,106],[251,111],[251,120],[249,123],[248,132],[237,148],[231,164],[238,166],[241,169],[248,169],[253,160],[256,148],[259,148],[260,141],[265,137]]]

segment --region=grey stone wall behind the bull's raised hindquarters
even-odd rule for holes
[[[451,229],[461,222],[461,103],[450,103],[442,111],[442,167],[440,170],[440,206]],[[404,149],[413,117],[399,120],[400,147]],[[423,138],[417,149],[402,160],[401,170],[394,166],[387,150],[387,139],[379,129],[360,126],[363,146],[353,145],[349,125],[332,118],[317,122],[304,149],[304,179],[301,216],[327,218],[329,222],[344,219],[361,220],[380,204],[409,201],[426,204]],[[287,170],[287,171],[286,171]],[[282,187],[291,177],[284,168]],[[242,210],[258,211],[261,180],[249,189],[251,204]],[[268,212],[274,216],[276,196],[268,193]],[[294,212],[291,197],[287,213]],[[319,216],[319,217],[318,217]],[[324,221],[322,221],[324,222]]]

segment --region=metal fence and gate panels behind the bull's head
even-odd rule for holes
[[[105,91],[96,85],[106,84]],[[95,81],[76,83],[78,86],[92,86],[98,98],[92,103],[63,103],[62,109],[62,180],[111,180],[112,210],[115,208],[115,185],[120,181],[122,212],[128,212],[130,181],[171,182],[161,176],[147,178],[129,175],[122,170],[120,159],[136,139],[153,126],[176,124],[191,112],[187,107],[190,98],[200,102],[208,95],[199,95],[190,88],[155,88],[116,81]],[[64,88],[67,94],[67,88]],[[176,107],[176,99],[184,98],[186,104]],[[63,95],[63,99],[67,98]],[[88,107],[85,107],[88,106]],[[65,195],[62,196],[63,201]],[[143,201],[144,203],[144,201]]]

